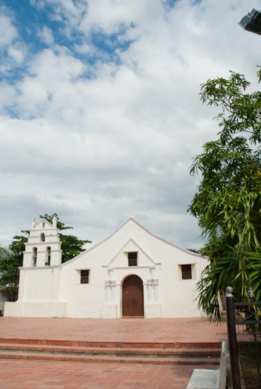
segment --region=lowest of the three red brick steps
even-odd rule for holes
[[[21,352],[15,350],[0,350],[0,358],[4,359],[31,359],[45,361],[70,361],[70,362],[106,362],[106,363],[142,363],[156,365],[204,365],[219,366],[219,358],[216,357],[168,357],[158,358],[157,356],[109,356],[109,355],[68,355],[62,353],[42,353],[42,352]]]

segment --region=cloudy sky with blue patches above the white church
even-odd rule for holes
[[[0,244],[56,212],[97,243],[126,218],[199,248],[191,159],[215,139],[199,86],[244,73],[261,0],[1,0]]]

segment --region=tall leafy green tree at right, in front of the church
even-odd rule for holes
[[[205,143],[191,165],[190,174],[202,177],[188,209],[211,260],[196,293],[212,319],[220,319],[218,291],[228,284],[239,299],[248,298],[250,285],[261,298],[261,92],[246,93],[249,85],[231,72],[201,87],[203,103],[221,108],[218,140]]]

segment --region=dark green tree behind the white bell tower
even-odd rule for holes
[[[57,218],[58,231],[70,230],[73,227],[65,226],[56,213],[53,215],[40,215],[41,219],[46,219],[52,223],[53,217]],[[14,240],[8,248],[0,247],[0,284],[7,285],[13,299],[16,298],[18,283],[19,283],[19,266],[23,263],[24,244],[27,242],[29,230],[22,230],[23,235],[14,236]],[[76,255],[84,251],[86,243],[92,243],[90,240],[78,239],[75,235],[64,234],[58,232],[60,241],[62,242],[62,262],[69,261]]]

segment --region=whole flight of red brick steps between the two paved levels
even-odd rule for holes
[[[130,343],[0,338],[0,358],[199,365],[217,369],[220,342]]]

